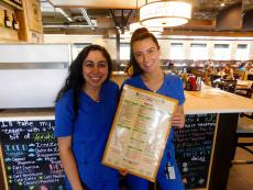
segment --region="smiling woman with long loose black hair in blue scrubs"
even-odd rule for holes
[[[66,188],[118,190],[118,170],[101,165],[119,88],[112,62],[99,45],[85,47],[72,63],[55,105],[55,131]]]

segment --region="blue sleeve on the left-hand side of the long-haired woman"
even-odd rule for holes
[[[55,131],[54,136],[70,136],[74,132],[75,113],[72,94],[64,94],[55,105]]]

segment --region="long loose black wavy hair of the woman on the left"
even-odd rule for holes
[[[82,64],[88,54],[91,51],[99,51],[103,55],[103,57],[107,59],[108,64],[108,76],[106,80],[109,80],[111,77],[111,70],[112,70],[112,60],[110,57],[110,54],[107,52],[107,49],[100,45],[89,45],[85,47],[76,57],[76,59],[72,63],[69,69],[68,69],[68,76],[65,80],[64,87],[59,90],[55,102],[57,102],[63,94],[68,91],[69,89],[73,89],[73,101],[74,101],[74,111],[77,115],[78,108],[79,108],[79,93],[82,90],[85,78],[82,76]]]

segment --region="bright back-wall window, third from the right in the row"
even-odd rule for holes
[[[207,44],[190,44],[191,59],[207,59]]]

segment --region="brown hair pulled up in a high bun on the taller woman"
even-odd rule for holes
[[[133,35],[131,37],[130,42],[130,67],[132,66],[133,68],[133,74],[132,76],[136,76],[143,72],[141,67],[138,65],[138,62],[134,57],[133,54],[133,44],[138,41],[143,41],[145,38],[151,38],[156,45],[157,48],[160,49],[160,44],[157,38],[154,36],[154,34],[150,33],[146,27],[140,27],[133,32]]]

